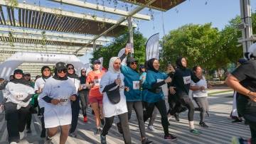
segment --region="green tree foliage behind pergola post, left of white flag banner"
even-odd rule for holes
[[[144,64],[146,38],[144,38],[142,33],[139,33],[139,31],[134,30],[133,34],[134,58],[139,61],[139,64]],[[118,52],[122,50],[122,48],[125,48],[128,41],[129,33],[128,30],[125,30],[122,32],[122,35],[114,38],[110,44],[96,48],[96,50],[92,52],[93,58],[90,60],[90,62],[92,63],[93,60],[103,57],[103,67],[107,69],[109,67],[110,58],[117,57]]]

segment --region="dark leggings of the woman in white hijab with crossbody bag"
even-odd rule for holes
[[[131,139],[131,134],[129,132],[128,113],[122,113],[118,115],[118,117],[119,117],[119,121],[121,121],[124,143],[130,144],[132,143],[132,139]],[[107,135],[108,131],[112,127],[113,121],[114,121],[114,116],[110,118],[105,117],[105,125],[103,126],[103,129],[102,129],[103,136]]]

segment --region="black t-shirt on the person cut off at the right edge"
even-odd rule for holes
[[[243,63],[231,74],[240,81],[242,87],[256,92],[256,60]],[[240,94],[238,99],[238,111],[241,114],[256,113],[256,103],[250,100],[248,96]]]

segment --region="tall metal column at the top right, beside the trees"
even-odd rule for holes
[[[242,50],[247,52],[252,45],[252,40],[247,40],[252,37],[252,18],[250,9],[250,0],[240,0],[241,23],[245,23],[245,28],[242,28]]]

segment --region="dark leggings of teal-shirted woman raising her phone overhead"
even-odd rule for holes
[[[141,133],[142,138],[146,138],[145,126],[143,121],[143,106],[142,101],[127,101],[127,109],[128,109],[128,120],[131,119],[132,116],[132,108],[137,115],[137,119],[139,121],[139,131]],[[118,123],[118,125],[122,125],[122,123]]]

